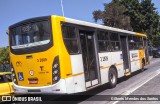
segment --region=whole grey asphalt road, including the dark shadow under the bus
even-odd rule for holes
[[[130,78],[118,79],[115,88],[109,89],[105,84],[85,93],[72,96],[54,96],[54,95],[32,95],[45,98],[45,102],[30,102],[43,104],[159,104],[158,101],[107,101],[107,95],[160,95],[160,59],[152,59],[151,64],[146,66],[146,70],[137,71]],[[26,95],[31,96],[31,95]],[[75,101],[81,98],[81,101]],[[106,98],[106,99],[105,99]],[[73,101],[63,101],[63,100]],[[29,102],[14,102],[28,104]]]

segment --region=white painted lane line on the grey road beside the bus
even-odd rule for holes
[[[158,69],[155,73],[153,73],[153,74],[151,74],[150,76],[152,76],[152,77],[150,77],[149,79],[147,79],[146,81],[144,81],[143,83],[141,83],[140,85],[137,85],[136,87],[134,87],[134,88],[131,88],[131,89],[129,89],[129,90],[127,90],[127,91],[125,91],[124,93],[122,93],[121,95],[130,95],[131,93],[133,93],[135,90],[137,90],[138,88],[140,88],[140,87],[142,87],[144,84],[146,84],[147,82],[149,82],[150,80],[152,80],[153,78],[155,78],[157,75],[159,75],[160,74],[160,69]],[[141,81],[142,82],[142,81]],[[117,104],[119,101],[111,101],[111,102],[109,102],[109,104],[111,103],[111,104]],[[108,104],[108,103],[107,103]]]

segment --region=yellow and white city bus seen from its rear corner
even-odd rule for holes
[[[147,36],[61,16],[9,27],[15,93],[71,94],[144,70]]]

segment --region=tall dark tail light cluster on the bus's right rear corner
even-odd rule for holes
[[[60,65],[59,65],[59,57],[56,56],[52,65],[52,84],[55,84],[60,80]]]

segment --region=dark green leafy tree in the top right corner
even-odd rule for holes
[[[130,17],[133,31],[146,33],[154,43],[159,36],[159,15],[151,0],[119,0],[126,7],[125,15]],[[157,44],[157,43],[156,43]]]

